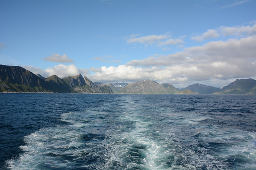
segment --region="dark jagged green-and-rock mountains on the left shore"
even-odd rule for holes
[[[42,77],[20,66],[0,65],[0,92],[114,93],[108,86],[97,86],[86,76]]]

